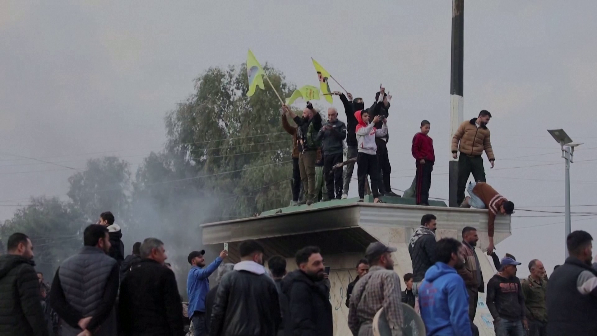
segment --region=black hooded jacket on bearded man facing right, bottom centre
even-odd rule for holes
[[[291,335],[333,334],[330,294],[322,283],[313,282],[303,271],[296,270],[282,280],[282,292],[288,298],[290,307]]]

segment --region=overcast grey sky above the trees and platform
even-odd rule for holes
[[[493,114],[497,160],[489,170],[485,159],[487,181],[517,207],[564,211],[564,164],[550,128],[584,142],[571,168],[572,204],[597,204],[595,13],[589,0],[465,4],[464,118]],[[0,219],[11,218],[15,200],[63,195],[76,172],[12,155],[81,169],[113,154],[134,171],[162,148],[165,112],[192,93],[193,78],[245,62],[247,48],[299,86],[317,85],[314,57],[367,104],[383,83],[393,95],[392,187],[410,185],[411,139],[427,119],[436,152],[430,195],[447,198],[450,29],[451,1],[2,1]],[[513,218],[497,252],[524,264],[539,258],[550,271],[564,259],[563,221]],[[572,228],[597,237],[596,223],[575,216]]]

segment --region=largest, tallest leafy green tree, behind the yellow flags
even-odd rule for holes
[[[294,86],[264,69],[289,96]],[[166,151],[177,160],[171,171],[180,180],[169,183],[217,197],[214,219],[253,215],[290,200],[284,181],[291,176],[292,142],[280,124],[280,103],[270,87],[245,96],[246,74],[245,65],[208,69],[196,79],[195,94],[165,118]]]

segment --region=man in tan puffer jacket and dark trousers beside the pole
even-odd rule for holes
[[[483,151],[489,158],[491,168],[494,167],[496,158],[491,148],[491,133],[487,128],[490,119],[491,113],[482,110],[479,112],[478,118],[472,118],[460,124],[452,137],[452,156],[456,159],[458,158],[458,152],[460,152],[456,189],[457,204],[462,203],[464,200],[464,187],[466,187],[466,181],[468,181],[470,173],[473,173],[475,182],[485,182],[485,168],[481,157]]]

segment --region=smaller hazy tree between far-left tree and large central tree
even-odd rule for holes
[[[70,176],[67,195],[88,221],[95,222],[101,212],[111,211],[117,221],[127,222],[130,179],[127,161],[93,158],[87,161],[87,169]]]

